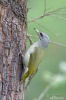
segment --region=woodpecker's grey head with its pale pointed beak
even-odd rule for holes
[[[36,32],[38,33],[38,37],[39,37],[39,46],[43,47],[43,48],[47,48],[49,42],[50,42],[50,39],[49,39],[49,36],[43,32],[39,32],[37,29],[35,29]]]

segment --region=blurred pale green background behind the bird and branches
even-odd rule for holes
[[[44,0],[28,0],[28,21],[43,14]],[[46,0],[46,12],[55,10],[57,8],[66,7],[66,0]],[[55,16],[66,19],[66,9],[61,9],[59,14]],[[64,15],[61,15],[63,13]],[[35,22],[28,22],[28,34],[36,36],[33,28],[37,28],[41,32],[45,32],[50,37],[50,40],[66,44],[66,20],[61,18],[46,16],[42,19],[36,20],[40,25]],[[57,36],[51,34],[57,34]],[[37,39],[32,38],[33,42]],[[27,48],[29,41],[27,40]],[[47,93],[44,93],[47,86],[51,84]],[[31,80],[28,88],[25,91],[25,100],[66,100],[66,47],[49,44],[45,57],[39,65],[39,70]]]

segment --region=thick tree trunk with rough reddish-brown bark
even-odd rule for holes
[[[21,56],[26,48],[27,0],[0,0],[0,100],[24,100]]]

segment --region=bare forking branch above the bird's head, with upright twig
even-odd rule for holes
[[[63,18],[62,16],[58,16],[58,15],[66,15],[66,13],[60,13],[60,11],[63,10],[63,9],[66,9],[66,7],[60,7],[60,8],[57,8],[55,10],[47,12],[47,9],[46,9],[46,0],[44,0],[44,11],[43,11],[43,14],[41,16],[37,17],[37,18],[33,18],[32,20],[29,20],[28,23],[29,22],[34,22],[34,23],[38,24],[39,26],[43,27],[44,29],[46,29],[51,34],[54,34],[48,28],[46,28],[45,26],[43,26],[40,23],[38,23],[37,20],[41,19],[41,18],[44,18],[45,16],[50,16],[50,17],[56,17],[56,18],[59,18],[59,19],[62,19],[64,21],[66,21],[66,19]],[[54,34],[54,35],[57,36],[57,34]]]

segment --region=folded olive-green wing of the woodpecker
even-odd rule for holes
[[[44,49],[35,47],[34,52],[30,54],[30,60],[28,64],[28,71],[29,71],[29,76],[34,74],[34,72],[37,70],[41,60],[43,59],[44,56]]]

